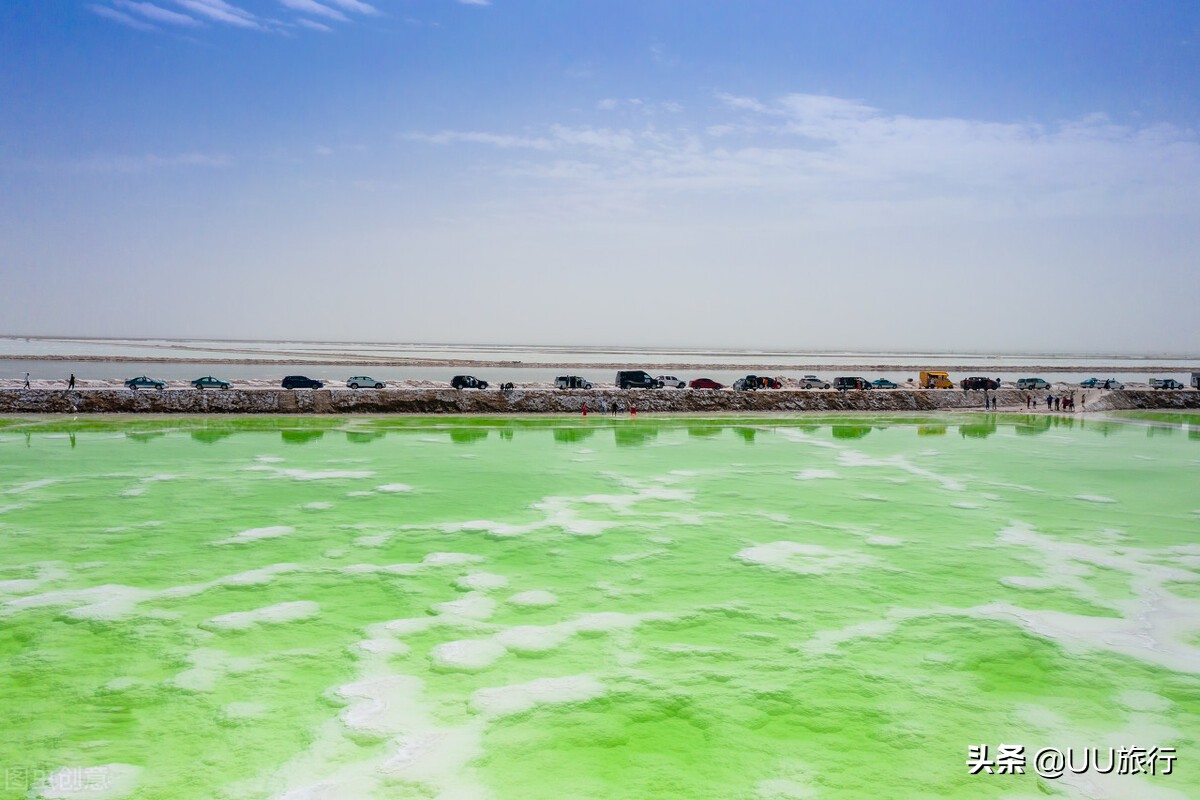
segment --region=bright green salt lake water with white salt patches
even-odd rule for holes
[[[1196,798],[1198,477],[1172,414],[4,420],[0,796]]]

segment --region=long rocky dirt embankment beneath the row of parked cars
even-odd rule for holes
[[[1056,395],[1066,393],[1055,391]],[[1002,389],[1001,410],[1026,410],[1030,392]],[[1076,411],[1200,409],[1200,391],[1074,390]],[[1044,395],[1037,397],[1043,401]],[[984,393],[962,390],[818,391],[406,389],[2,389],[0,414],[580,414],[616,405],[640,413],[937,411],[983,409]]]

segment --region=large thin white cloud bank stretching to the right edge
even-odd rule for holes
[[[528,154],[492,164],[612,207],[661,192],[752,197],[790,212],[886,219],[922,209],[955,215],[1177,213],[1200,204],[1200,139],[1168,126],[1122,126],[1103,115],[1055,124],[888,114],[857,100],[793,94],[718,95],[707,125],[551,124],[533,132],[442,131],[410,139]],[[601,101],[599,109],[619,102]],[[661,121],[661,120],[660,120]],[[544,154],[544,155],[539,155]],[[562,196],[545,192],[547,203]],[[882,211],[887,209],[888,211]],[[935,217],[930,217],[935,218]]]

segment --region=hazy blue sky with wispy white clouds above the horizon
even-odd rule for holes
[[[6,333],[1200,353],[1200,5],[0,8]]]

